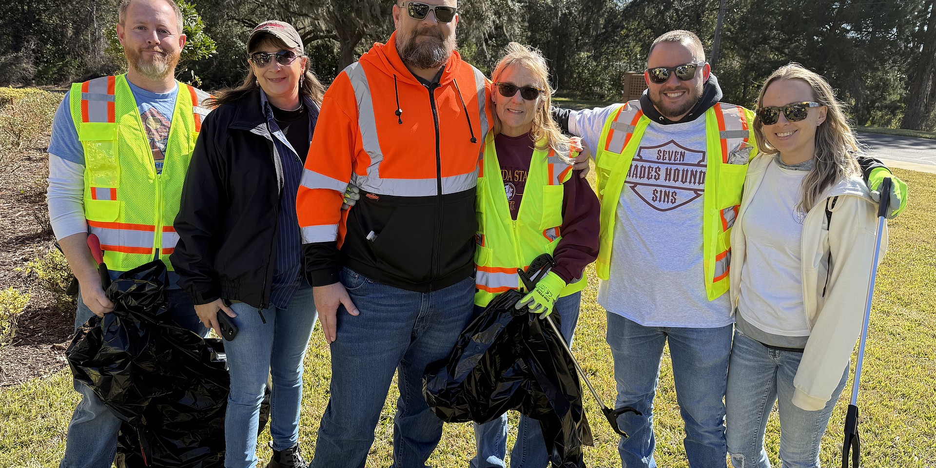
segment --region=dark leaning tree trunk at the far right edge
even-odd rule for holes
[[[936,2],[929,0],[929,21],[923,37],[923,52],[917,61],[913,80],[907,90],[907,110],[903,113],[900,128],[924,130],[933,114],[936,104]]]

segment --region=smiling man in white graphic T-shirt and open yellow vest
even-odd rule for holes
[[[598,303],[607,310],[623,467],[654,467],[652,402],[669,343],[683,440],[693,468],[725,466],[724,390],[731,350],[729,237],[748,162],[753,112],[720,103],[695,34],[653,41],[638,100],[556,110],[592,149],[601,197]],[[881,167],[862,161],[866,177]]]

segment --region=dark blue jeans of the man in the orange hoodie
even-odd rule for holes
[[[329,406],[311,466],[364,467],[393,373],[399,371],[392,466],[422,468],[442,437],[442,420],[422,396],[422,375],[430,362],[448,356],[471,321],[475,280],[421,293],[375,283],[346,268],[340,278],[360,314],[338,309]]]

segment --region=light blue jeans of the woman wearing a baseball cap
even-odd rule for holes
[[[225,467],[256,466],[256,432],[260,403],[272,377],[270,435],[274,450],[285,450],[299,442],[300,402],[302,400],[302,358],[312,336],[318,314],[312,286],[300,280],[285,309],[271,306],[263,310],[263,323],[256,307],[236,302],[234,340],[225,342],[231,391],[225,413]]]

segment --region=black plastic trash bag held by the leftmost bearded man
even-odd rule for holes
[[[68,365],[123,421],[118,467],[221,467],[230,387],[224,345],[166,318],[166,277],[156,260],[115,280],[107,290],[114,311],[78,331]]]

